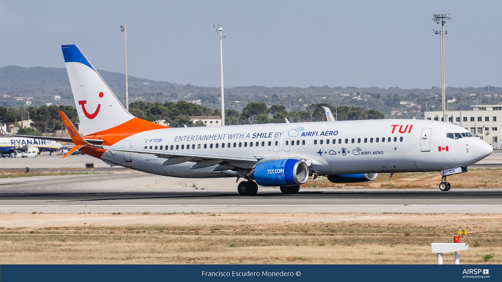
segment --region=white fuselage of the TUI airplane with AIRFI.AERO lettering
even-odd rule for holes
[[[465,128],[417,119],[163,128],[131,135],[113,146],[302,159],[317,175],[440,171],[467,167],[492,152],[489,144]],[[193,162],[162,166],[166,159],[147,154],[108,151],[101,160],[172,177],[231,176],[212,171],[216,166],[190,169]]]

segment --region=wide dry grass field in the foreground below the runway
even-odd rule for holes
[[[78,216],[87,222],[0,228],[0,264],[434,264],[430,243],[452,242],[459,226],[469,230],[462,263],[502,263],[501,215],[140,214],[134,217],[156,223],[132,225],[104,225],[128,214]],[[444,260],[453,263],[453,255]]]

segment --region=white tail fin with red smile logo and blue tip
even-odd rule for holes
[[[61,48],[83,135],[166,128],[129,113],[77,45]]]

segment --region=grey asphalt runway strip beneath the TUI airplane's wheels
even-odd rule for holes
[[[50,203],[50,204],[49,204]],[[296,195],[235,192],[2,193],[0,212],[401,212],[502,213],[499,189],[337,190],[305,189]]]

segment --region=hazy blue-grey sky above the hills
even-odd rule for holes
[[[1,1],[1,0],[0,0]],[[0,66],[64,67],[77,44],[97,69],[219,86],[219,23],[225,87],[502,86],[499,1],[3,1]]]

